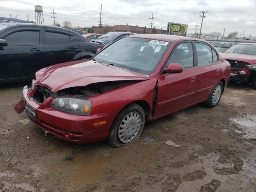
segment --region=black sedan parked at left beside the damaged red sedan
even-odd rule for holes
[[[102,46],[60,27],[0,24],[0,83],[32,80],[41,68],[90,58]]]

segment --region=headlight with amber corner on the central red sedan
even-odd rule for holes
[[[53,100],[51,107],[66,113],[89,116],[92,101],[79,98],[58,97]]]

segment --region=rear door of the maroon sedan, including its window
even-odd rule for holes
[[[198,75],[196,76],[198,84],[193,103],[198,103],[206,100],[212,92],[212,88],[216,83],[214,73],[220,73],[220,65],[216,61],[216,52],[208,44],[195,42],[195,48],[198,65]],[[215,53],[214,62],[212,52]]]

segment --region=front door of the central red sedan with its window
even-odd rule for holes
[[[175,112],[189,106],[196,92],[197,69],[192,42],[181,42],[172,50],[165,66],[169,63],[181,64],[183,72],[160,74],[158,77],[158,95],[154,117]]]

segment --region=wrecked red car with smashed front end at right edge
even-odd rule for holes
[[[221,54],[231,64],[231,80],[248,82],[256,89],[256,43],[240,43]]]

